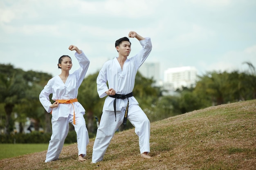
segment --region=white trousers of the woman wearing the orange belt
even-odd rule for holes
[[[86,146],[89,143],[89,135],[83,113],[77,113],[75,115],[75,125],[73,123],[73,117],[74,115],[70,114],[69,117],[59,117],[58,120],[52,118],[52,136],[49,141],[45,162],[58,159],[69,131],[69,123],[73,124],[76,131],[78,155],[82,154],[83,157],[86,155]]]

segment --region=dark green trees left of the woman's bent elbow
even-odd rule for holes
[[[20,129],[25,117],[35,118],[37,122],[42,117],[43,107],[40,105],[38,95],[43,85],[52,76],[47,73],[35,71],[23,71],[14,68],[11,64],[0,64],[0,101],[4,104],[6,113],[5,133],[10,134],[13,130],[13,119],[11,114],[16,106],[16,113],[20,121]],[[41,112],[41,115],[38,114]],[[33,114],[34,113],[34,114]],[[35,127],[36,130],[39,128]]]

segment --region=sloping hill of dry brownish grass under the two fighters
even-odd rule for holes
[[[213,106],[151,123],[150,156],[142,159],[134,129],[113,137],[103,161],[77,161],[77,144],[44,163],[46,150],[0,160],[1,170],[256,170],[256,100]]]

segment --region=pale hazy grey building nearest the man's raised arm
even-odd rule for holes
[[[139,73],[146,78],[153,78],[155,80],[154,86],[159,86],[160,67],[158,62],[144,62],[139,68]]]

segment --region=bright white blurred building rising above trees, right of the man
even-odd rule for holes
[[[168,68],[164,71],[164,89],[175,91],[178,88],[195,86],[197,69],[192,66]]]

